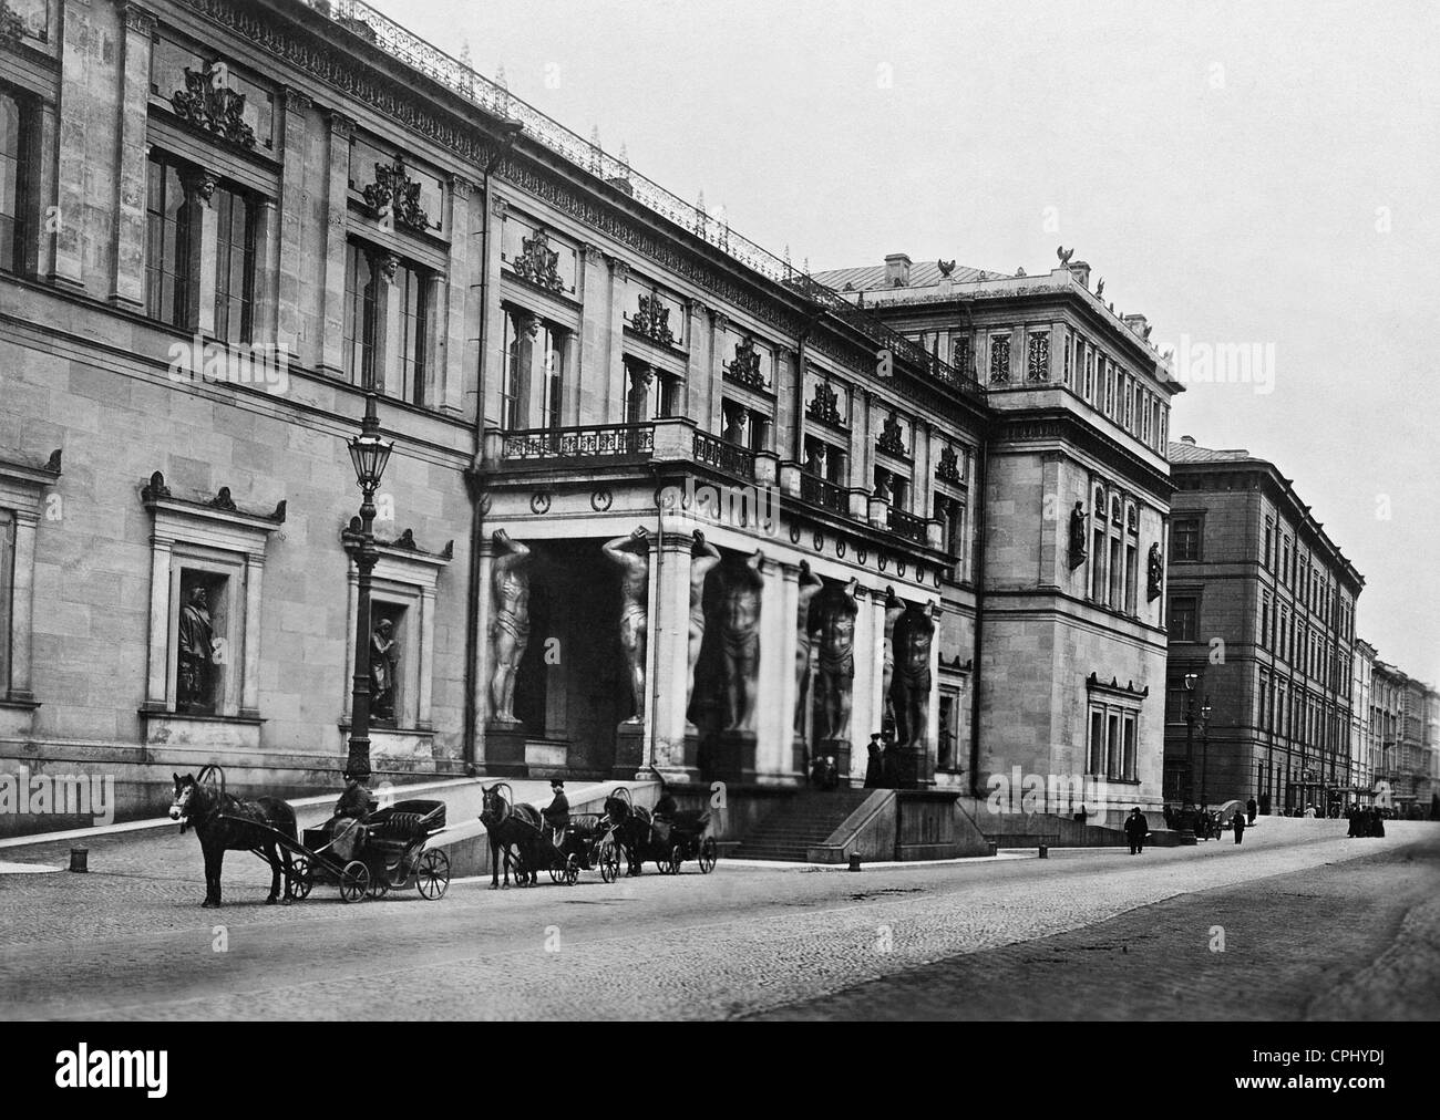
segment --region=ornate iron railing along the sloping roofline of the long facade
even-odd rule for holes
[[[888,351],[927,371],[935,380],[960,392],[984,396],[984,387],[968,373],[949,366],[899,331],[850,302],[834,288],[828,288],[814,276],[795,269],[789,261],[760,248],[749,238],[730,229],[729,222],[713,217],[706,210],[687,203],[677,194],[661,187],[654,180],[634,171],[628,163],[611,155],[599,144],[583,140],[559,121],[540,112],[526,101],[514,96],[478,73],[472,66],[446,55],[432,43],[406,30],[389,16],[382,14],[361,0],[300,0],[300,3],[327,16],[340,27],[356,35],[392,58],[432,78],[445,88],[459,94],[495,117],[520,121],[526,135],[573,164],[583,167],[606,181],[624,183],[625,191],[635,202],[664,219],[708,242],[733,261],[759,272],[776,284],[793,288],[868,338],[877,351]],[[877,361],[878,361],[877,354]]]

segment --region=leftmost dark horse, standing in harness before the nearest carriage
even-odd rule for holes
[[[204,777],[212,772],[220,774],[219,790],[204,782]],[[274,836],[262,828],[256,828],[256,825],[269,825],[298,844],[300,828],[289,802],[279,798],[245,800],[233,793],[226,793],[225,773],[217,766],[206,766],[200,770],[199,780],[194,774],[184,777],[171,774],[171,777],[174,779],[174,802],[170,805],[170,819],[180,822],[181,834],[186,826],[193,825],[194,835],[200,838],[200,851],[204,854],[204,901],[200,906],[206,910],[220,906],[220,865],[225,862],[228,851],[256,851],[271,865],[271,893],[265,900],[266,906],[279,901],[279,874],[284,868],[285,906],[289,906],[295,897],[289,848],[281,848]],[[278,852],[276,848],[279,848]]]

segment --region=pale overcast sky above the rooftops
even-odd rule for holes
[[[1273,344],[1273,392],[1191,384],[1171,436],[1293,478],[1361,636],[1440,679],[1440,6],[377,6],[796,266],[1063,242],[1162,347]]]

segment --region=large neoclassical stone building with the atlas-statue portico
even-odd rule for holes
[[[1084,266],[805,276],[359,3],[7,6],[0,764],[334,783],[370,392],[377,773],[1158,805],[1178,386]]]

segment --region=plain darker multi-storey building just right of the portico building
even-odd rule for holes
[[[1338,808],[1364,579],[1274,464],[1188,436],[1169,459],[1166,798]]]

